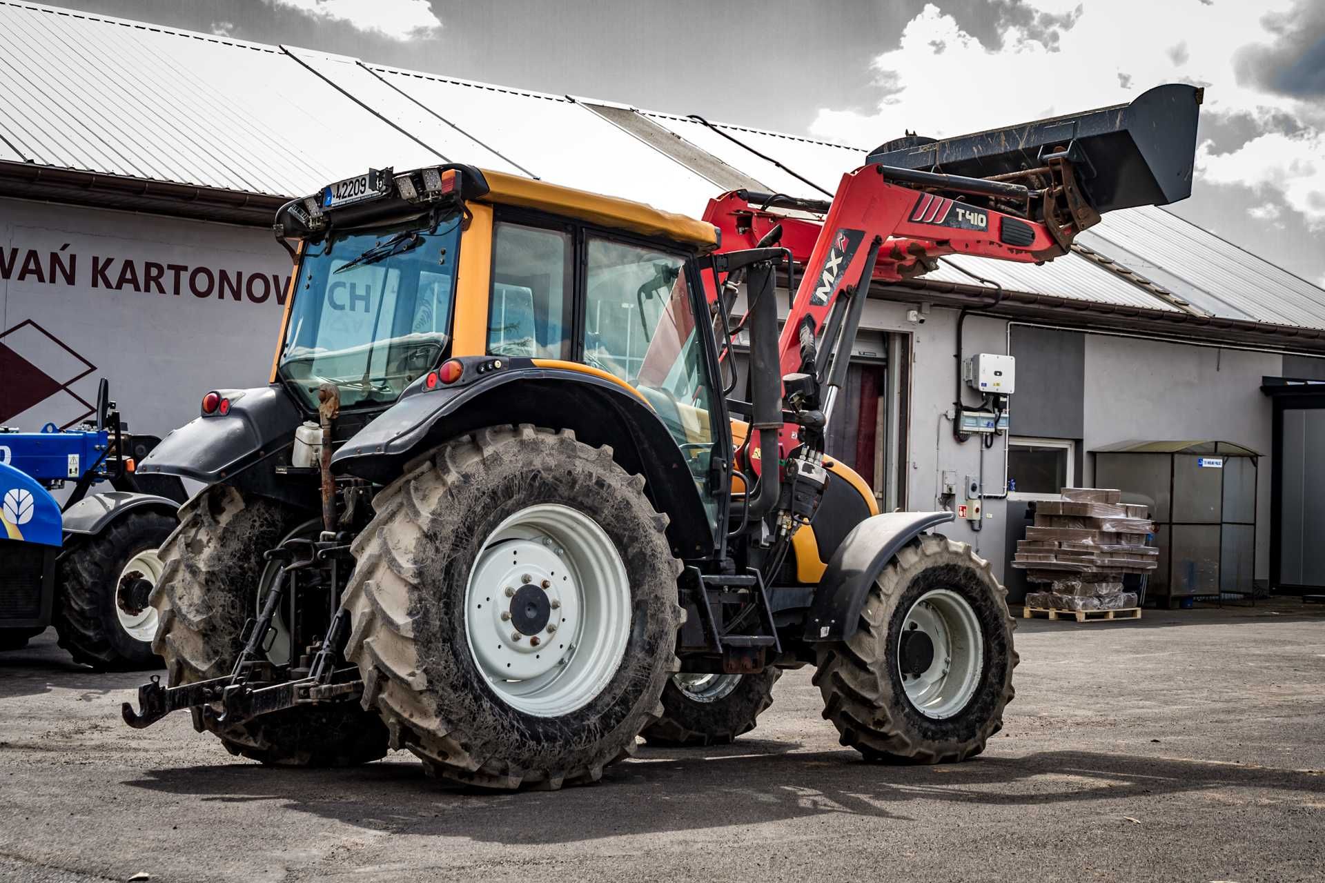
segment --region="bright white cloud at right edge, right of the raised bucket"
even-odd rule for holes
[[[1325,135],[1320,132],[1267,132],[1227,154],[1211,154],[1206,143],[1196,151],[1196,169],[1215,184],[1277,192],[1308,224],[1325,229]]]

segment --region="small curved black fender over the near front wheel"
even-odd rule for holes
[[[893,556],[920,534],[953,518],[951,512],[884,512],[852,528],[819,579],[804,639],[819,643],[853,635],[869,586]]]

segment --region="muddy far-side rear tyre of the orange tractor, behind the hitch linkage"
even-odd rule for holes
[[[151,596],[160,617],[152,646],[170,686],[231,673],[240,631],[256,612],[262,553],[303,519],[225,485],[195,496],[179,516],[160,549],[163,571]],[[193,728],[211,731],[232,755],[281,767],[352,767],[387,753],[382,720],[354,703],[286,708],[224,727],[195,711]]]

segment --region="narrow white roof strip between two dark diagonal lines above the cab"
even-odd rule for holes
[[[380,114],[390,124],[408,132],[408,147],[403,154],[374,160],[372,165],[417,168],[436,162],[469,163],[494,172],[523,175],[525,172],[445,120],[445,109],[421,106],[409,95],[395,89],[380,74],[368,70],[356,58],[333,56],[311,49],[282,46],[299,64],[326,79],[335,89],[347,93],[350,101]],[[436,111],[436,113],[433,113]]]

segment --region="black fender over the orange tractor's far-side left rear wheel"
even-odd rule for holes
[[[227,413],[200,414],[172,430],[138,463],[136,474],[176,475],[204,485],[231,483],[240,490],[317,507],[317,488],[280,481],[277,463],[288,463],[294,430],[309,417],[280,385],[217,389],[231,401]],[[261,465],[261,467],[258,467]]]

